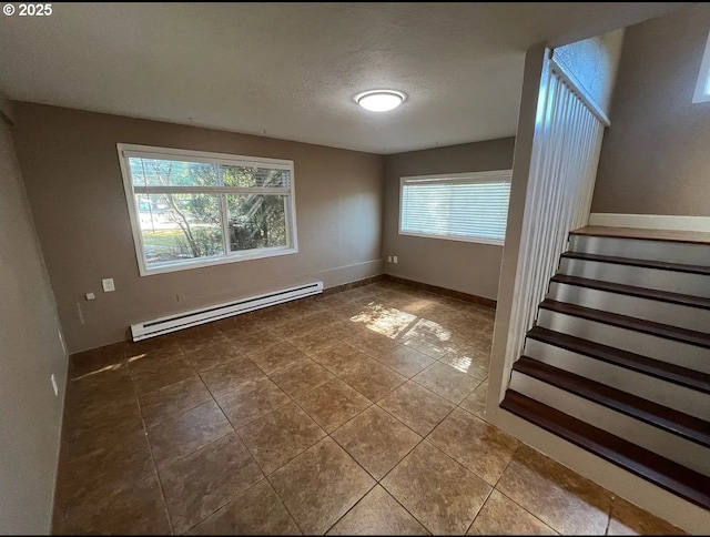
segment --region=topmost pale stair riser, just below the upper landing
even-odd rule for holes
[[[710,246],[706,244],[570,235],[569,250],[585,254],[710,266]]]

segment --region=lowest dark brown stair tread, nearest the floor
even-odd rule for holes
[[[506,392],[500,407],[688,501],[710,509],[708,476],[513,389]]]

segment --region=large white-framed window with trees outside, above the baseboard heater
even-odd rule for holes
[[[297,251],[292,161],[118,148],[141,275]]]

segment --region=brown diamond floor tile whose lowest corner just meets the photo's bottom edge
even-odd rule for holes
[[[323,534],[375,482],[333,439],[324,438],[268,477],[304,534]]]

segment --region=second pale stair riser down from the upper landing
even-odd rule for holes
[[[710,275],[562,257],[559,273],[710,298]]]

